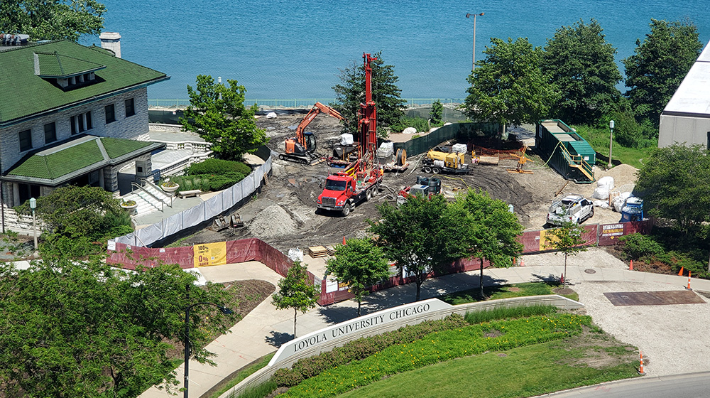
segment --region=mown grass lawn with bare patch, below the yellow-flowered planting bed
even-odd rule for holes
[[[610,346],[601,336],[463,357],[393,375],[339,397],[532,397],[636,377],[636,362],[631,360],[635,350],[618,343]]]

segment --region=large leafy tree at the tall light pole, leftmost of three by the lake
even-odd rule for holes
[[[491,44],[467,79],[471,87],[466,89],[466,117],[500,123],[503,131],[506,124],[537,123],[547,117],[559,92],[540,69],[542,49],[528,38],[491,38]]]

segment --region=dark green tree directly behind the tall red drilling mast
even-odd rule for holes
[[[390,127],[404,116],[405,100],[400,98],[402,90],[397,87],[399,77],[393,65],[385,65],[382,51],[375,53],[372,61],[372,99],[377,107],[378,134],[383,127]],[[357,136],[360,104],[365,103],[365,67],[362,62],[340,70],[340,84],[335,85],[335,102],[330,104],[346,119],[344,130]]]

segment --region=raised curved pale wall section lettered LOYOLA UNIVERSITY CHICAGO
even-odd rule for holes
[[[371,329],[378,328],[388,323],[391,323],[393,326],[404,325],[408,320],[413,318],[435,313],[436,311],[447,308],[452,308],[452,306],[437,298],[430,298],[429,300],[405,304],[404,306],[390,308],[370,315],[361,316],[351,321],[338,323],[337,325],[317,330],[285,343],[278,349],[273,358],[271,358],[268,365],[273,366],[288,359],[288,357],[297,355],[303,350],[315,348],[319,345],[326,345],[337,339],[348,337],[360,338],[361,335],[367,335],[368,331]]]

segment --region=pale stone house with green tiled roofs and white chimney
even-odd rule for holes
[[[151,152],[165,144],[147,141],[147,87],[170,77],[119,58],[117,39],[110,40],[114,50],[70,41],[22,44],[0,35],[0,43],[10,44],[0,44],[5,205],[67,184],[116,192],[117,173],[129,162],[137,178],[151,176]]]

